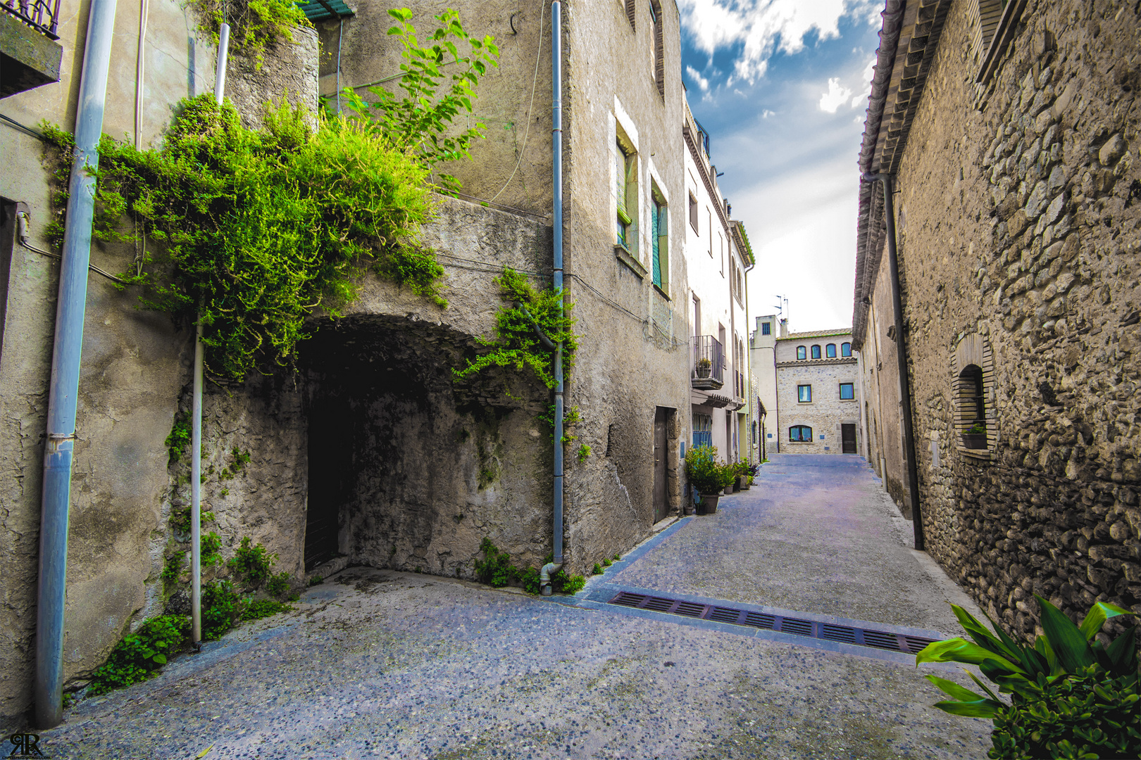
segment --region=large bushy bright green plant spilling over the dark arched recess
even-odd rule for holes
[[[157,248],[121,278],[145,286],[144,308],[201,321],[211,374],[240,381],[293,366],[311,311],[337,316],[370,268],[446,304],[443,269],[416,237],[431,214],[428,171],[383,136],[346,120],[314,132],[305,109],[284,103],[267,107],[261,130],[211,95],[179,108],[156,150],[104,137],[94,234],[145,235]],[[73,144],[42,126],[55,146],[52,199],[65,203],[59,167]],[[62,239],[62,226],[52,231]]]

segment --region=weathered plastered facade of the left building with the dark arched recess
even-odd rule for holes
[[[567,400],[581,416],[568,431],[577,440],[566,457],[572,573],[624,554],[656,521],[679,512],[681,442],[688,439],[689,330],[686,310],[677,308],[688,299],[680,255],[685,213],[659,216],[667,220],[659,230],[666,238],[658,246],[659,281],[650,275],[653,201],[681,207],[685,197],[680,21],[673,5],[631,3],[629,13],[597,6],[567,7],[563,18],[563,231],[568,301],[582,336]],[[493,371],[463,383],[451,374],[480,349],[477,337],[494,334],[501,301],[493,280],[504,267],[532,276],[536,286],[551,277],[551,30],[541,7],[459,7],[472,33],[496,36],[502,65],[485,80],[478,101],[489,138],[474,162],[451,169],[466,194],[486,196],[488,205],[440,198],[436,221],[423,230],[423,243],[445,268],[448,308],[366,277],[359,300],[342,317],[314,314],[315,335],[300,346],[296,374],[251,377],[238,386],[208,383],[203,509],[215,515],[205,530],[221,537],[224,559],[248,536],[278,555],[276,571],[300,583],[307,573],[346,563],[470,578],[484,538],[524,566],[537,566],[550,551],[552,455],[537,418],[549,391],[519,373]],[[298,30],[296,43],[270,47],[260,70],[232,57],[228,89],[243,119],[256,125],[270,93],[288,92],[316,107],[318,74],[329,81],[333,41],[343,43],[346,71],[332,73],[346,84],[390,73],[386,66],[396,55],[385,34],[387,8],[359,3],[356,16],[345,19],[341,40],[332,36],[339,22]],[[429,11],[443,8],[416,8],[414,22],[426,27]],[[187,47],[183,31],[199,25],[188,14],[175,2],[151,2],[137,138],[143,146],[161,138],[180,98],[212,87],[215,50],[209,39],[194,35]],[[133,60],[137,8],[120,3],[115,27],[114,59]],[[70,67],[82,59],[86,14],[67,17],[60,30],[59,83],[5,99],[5,115],[26,125],[47,119],[73,128]],[[620,65],[634,48],[646,63],[640,76],[623,74]],[[350,65],[358,68],[349,72]],[[369,79],[370,66],[380,74]],[[136,129],[135,71],[112,67],[107,133]],[[502,129],[505,122],[518,129]],[[626,255],[615,246],[618,134],[628,140],[633,171],[628,211],[634,245]],[[0,254],[7,263],[0,463],[9,473],[0,518],[10,537],[0,542],[0,598],[9,621],[0,632],[0,718],[7,726],[21,722],[34,672],[58,268],[14,244],[19,207],[32,220],[29,243],[48,248],[50,205],[34,129],[6,139],[18,147],[14,170],[0,178]],[[123,246],[92,247],[92,262],[107,271],[122,271],[133,255]],[[82,683],[123,634],[168,608],[161,573],[185,540],[171,517],[188,504],[186,472],[169,464],[164,441],[189,407],[193,326],[136,309],[137,294],[110,285],[92,275],[88,288],[65,612],[70,685]],[[580,444],[588,448],[575,456]],[[240,475],[222,479],[234,451],[248,453],[249,461]]]

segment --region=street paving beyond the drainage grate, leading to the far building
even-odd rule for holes
[[[774,455],[752,489],[722,497],[606,582],[958,636],[948,602],[978,607],[931,558],[856,456]]]

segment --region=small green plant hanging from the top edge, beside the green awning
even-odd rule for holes
[[[229,24],[233,52],[249,57],[259,70],[269,42],[292,42],[294,27],[310,26],[305,13],[289,0],[193,0],[192,5],[202,14],[201,28],[215,44],[221,25]]]

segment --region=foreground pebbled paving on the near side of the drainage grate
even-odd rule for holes
[[[989,722],[936,700],[912,664],[356,567],[70,709],[41,744],[99,760],[984,757]]]

